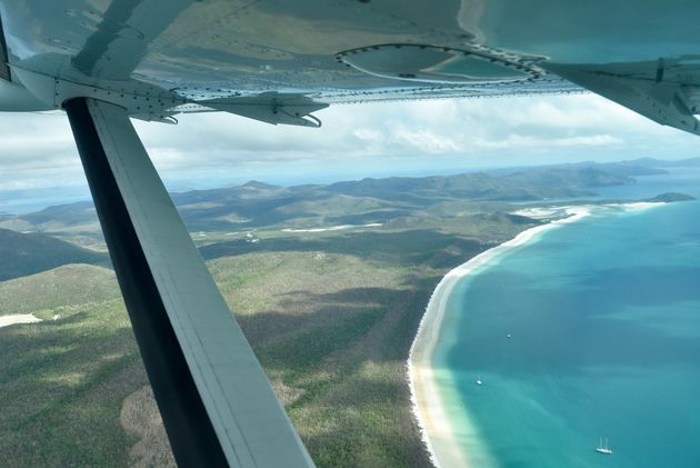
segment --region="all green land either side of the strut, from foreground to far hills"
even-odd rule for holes
[[[508,215],[503,197],[474,195],[489,185],[516,193],[529,183],[522,177],[250,182],[176,197],[319,466],[429,464],[411,415],[408,351],[447,270],[541,222]],[[2,222],[99,243],[93,212],[80,203]],[[89,252],[70,247],[58,268],[0,281],[0,315],[44,319],[0,328],[2,465],[172,464],[113,273],[64,265]],[[47,255],[29,249],[24,261]]]

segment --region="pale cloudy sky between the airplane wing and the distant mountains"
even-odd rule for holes
[[[224,113],[136,122],[171,189],[293,185],[638,157],[700,156],[700,140],[593,94],[337,106],[321,129]],[[87,196],[66,116],[0,113],[0,211]],[[41,203],[42,201],[38,201]]]

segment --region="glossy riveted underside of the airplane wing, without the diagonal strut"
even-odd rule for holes
[[[143,120],[227,111],[310,127],[326,104],[591,90],[696,132],[698,9],[689,0],[4,1],[0,77],[29,89],[33,108],[37,97],[60,108],[83,93],[66,90],[78,84],[123,93],[130,100],[111,100]],[[54,96],[34,83],[56,78]]]

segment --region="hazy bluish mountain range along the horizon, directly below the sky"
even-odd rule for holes
[[[173,200],[192,231],[386,222],[428,207],[440,211],[444,203],[456,200],[507,202],[593,195],[598,187],[633,183],[632,176],[662,173],[659,166],[682,163],[700,165],[700,159],[670,162],[646,158],[294,187],[250,181],[239,187],[173,193]],[[54,233],[98,230],[91,201],[1,216],[0,227]]]

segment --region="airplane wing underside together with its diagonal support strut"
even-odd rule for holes
[[[600,93],[699,133],[694,0],[0,0],[0,110],[64,109],[181,464],[309,466],[129,118]],[[139,281],[133,278],[140,278]]]

